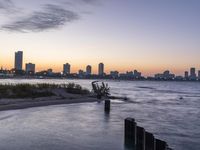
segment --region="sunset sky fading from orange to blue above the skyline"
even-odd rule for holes
[[[0,65],[143,75],[200,69],[199,0],[0,0]]]

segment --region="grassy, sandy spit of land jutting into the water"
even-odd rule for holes
[[[0,86],[0,111],[97,101],[88,89],[74,83]]]

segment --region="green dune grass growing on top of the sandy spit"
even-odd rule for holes
[[[64,89],[71,94],[89,94],[78,84],[6,84],[0,85],[0,98],[38,98],[55,95],[53,90]]]

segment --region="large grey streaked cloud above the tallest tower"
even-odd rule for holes
[[[47,4],[42,11],[35,11],[28,17],[18,18],[17,21],[3,25],[2,29],[18,32],[40,32],[57,29],[77,19],[79,19],[77,13],[58,5]]]

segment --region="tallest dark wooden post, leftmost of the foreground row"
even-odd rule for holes
[[[136,148],[136,126],[137,123],[133,118],[126,118],[125,119],[125,126],[124,126],[124,140],[125,146],[130,149]]]

